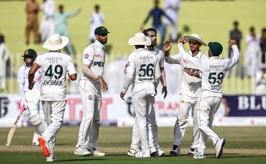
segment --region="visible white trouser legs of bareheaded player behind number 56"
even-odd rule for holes
[[[153,103],[154,104],[154,101]],[[151,113],[150,113],[150,124],[151,124],[151,131],[149,131],[149,146],[155,146],[156,148],[159,147],[158,143],[158,126],[156,123],[156,116],[155,111],[152,106]],[[151,140],[153,139],[153,141]],[[137,118],[135,117],[134,124],[133,124],[133,132],[132,132],[132,143],[130,145],[131,149],[139,149],[141,148],[141,141],[139,138],[139,130],[137,124]]]

